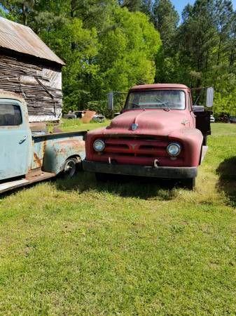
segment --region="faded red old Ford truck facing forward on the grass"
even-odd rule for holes
[[[212,103],[213,88],[207,88],[207,106]],[[99,179],[106,174],[181,179],[193,189],[209,117],[204,107],[193,106],[187,86],[134,86],[110,126],[87,134],[83,169]]]

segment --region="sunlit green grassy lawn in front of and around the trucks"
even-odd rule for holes
[[[235,315],[236,124],[212,130],[195,192],[79,173],[2,197],[0,314]]]

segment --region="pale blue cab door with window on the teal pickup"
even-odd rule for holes
[[[27,173],[29,136],[26,106],[18,100],[0,98],[0,180]]]

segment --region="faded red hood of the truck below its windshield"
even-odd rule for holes
[[[189,127],[189,124],[183,124],[185,121],[188,121],[188,118],[184,110],[132,110],[113,119],[105,133],[168,136],[173,131]],[[135,131],[132,131],[132,124],[138,124]]]

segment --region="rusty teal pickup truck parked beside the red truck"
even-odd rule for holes
[[[0,91],[0,193],[59,173],[74,176],[85,157],[85,133],[34,133],[25,100]]]

